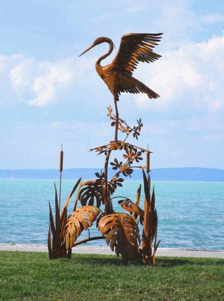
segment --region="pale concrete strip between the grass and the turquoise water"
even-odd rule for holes
[[[0,251],[28,251],[28,252],[48,252],[46,244],[10,244],[0,243]],[[72,249],[72,253],[82,254],[105,254],[115,255],[110,250],[109,246],[96,247],[96,246],[76,246]],[[223,251],[214,250],[190,250],[190,249],[171,249],[171,248],[158,248],[156,252],[157,256],[173,256],[173,257],[213,257],[224,258]]]

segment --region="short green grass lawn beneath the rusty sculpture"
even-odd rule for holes
[[[157,257],[156,266],[111,255],[0,251],[0,300],[224,300],[224,259]]]

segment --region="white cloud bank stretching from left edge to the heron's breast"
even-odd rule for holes
[[[79,87],[86,86],[86,83],[94,78],[92,72],[95,73],[95,60],[95,58],[71,58],[42,62],[35,58],[26,58],[22,54],[0,55],[2,90],[6,93],[9,86],[12,88],[11,93],[8,90],[7,96],[4,97],[2,93],[0,103],[12,102],[14,93],[17,99],[29,105],[45,107],[58,101],[77,78]]]

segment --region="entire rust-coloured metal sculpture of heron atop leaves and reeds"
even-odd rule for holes
[[[149,89],[146,85],[132,77],[132,72],[136,69],[138,61],[153,62],[159,57],[152,51],[154,45],[158,45],[158,37],[162,34],[126,34],[122,37],[121,45],[114,61],[105,67],[100,66],[102,59],[107,57],[113,51],[113,42],[108,38],[98,38],[94,43],[83,53],[103,42],[109,43],[109,51],[104,56],[100,57],[96,62],[96,71],[99,76],[107,84],[109,90],[114,95],[116,114],[113,113],[111,106],[107,107],[111,126],[115,126],[115,140],[108,144],[92,148],[97,155],[104,154],[106,156],[104,171],[96,173],[96,180],[86,181],[82,183],[81,179],[76,183],[72,193],[69,195],[67,202],[59,214],[57,202],[57,192],[55,197],[56,206],[56,228],[54,226],[53,215],[50,207],[50,226],[48,234],[48,247],[50,259],[59,257],[71,256],[71,249],[76,245],[92,241],[96,239],[105,239],[107,244],[110,244],[111,250],[115,250],[117,256],[120,254],[124,260],[135,259],[142,257],[147,265],[155,265],[155,253],[159,242],[157,238],[157,212],[155,209],[155,194],[154,188],[152,197],[150,195],[150,151],[133,144],[126,142],[126,139],[133,134],[138,140],[141,128],[143,127],[142,120],[137,120],[138,125],[130,127],[127,122],[119,118],[117,101],[121,92],[130,93],[146,93],[150,98],[157,98],[159,95]],[[83,54],[82,53],[82,54]],[[124,140],[118,140],[118,130],[126,134]],[[111,152],[115,150],[124,151],[125,162],[119,162],[116,158],[114,162],[110,162],[113,170],[117,171],[115,176],[108,180],[108,164]],[[146,166],[133,166],[134,163],[139,163],[143,160],[141,157],[146,153]],[[140,205],[141,185],[137,191],[136,203],[126,197],[113,197],[117,187],[122,187],[123,178],[131,177],[134,168],[140,168],[143,171],[144,180],[144,210]],[[147,175],[145,171],[147,172]],[[76,190],[76,195],[73,212],[67,219],[67,205]],[[114,212],[113,201],[118,199],[118,203],[128,213]],[[81,203],[82,207],[77,208],[77,202]],[[100,210],[100,206],[104,205],[104,211]],[[96,221],[96,227],[101,232],[101,236],[89,237],[77,241],[83,230],[88,230]],[[138,227],[138,222],[143,225],[142,237]],[[51,246],[50,229],[53,234]],[[142,247],[141,245],[142,240]],[[154,251],[153,251],[154,241]],[[54,249],[54,252],[52,251]],[[66,253],[68,250],[68,253]]]

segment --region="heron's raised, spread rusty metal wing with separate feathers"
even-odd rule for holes
[[[117,68],[129,75],[133,74],[139,62],[154,62],[161,55],[153,52],[155,42],[160,42],[162,34],[125,34],[120,43],[120,48],[110,68]]]

